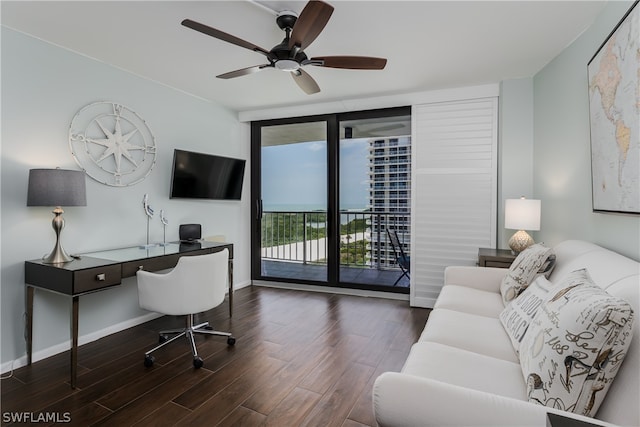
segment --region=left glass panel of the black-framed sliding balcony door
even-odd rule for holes
[[[260,128],[260,276],[327,282],[327,123]]]

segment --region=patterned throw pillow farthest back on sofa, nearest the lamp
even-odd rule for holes
[[[541,243],[531,245],[520,252],[500,284],[504,305],[506,306],[520,295],[539,274],[548,277],[554,265],[553,249]]]

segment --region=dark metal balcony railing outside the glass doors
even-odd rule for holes
[[[262,258],[327,263],[327,214],[324,211],[265,211],[262,216]],[[395,210],[380,212],[340,211],[340,265],[395,269],[387,228],[398,232],[409,255],[410,214]]]

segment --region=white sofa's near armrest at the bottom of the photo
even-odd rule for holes
[[[380,427],[545,427],[547,412],[597,426],[611,426],[599,420],[522,400],[398,372],[386,372],[376,379],[373,408]]]

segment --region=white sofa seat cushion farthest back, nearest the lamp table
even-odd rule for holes
[[[500,312],[504,310],[504,304],[502,297],[497,292],[447,285],[440,291],[433,308],[462,311],[497,319]]]

